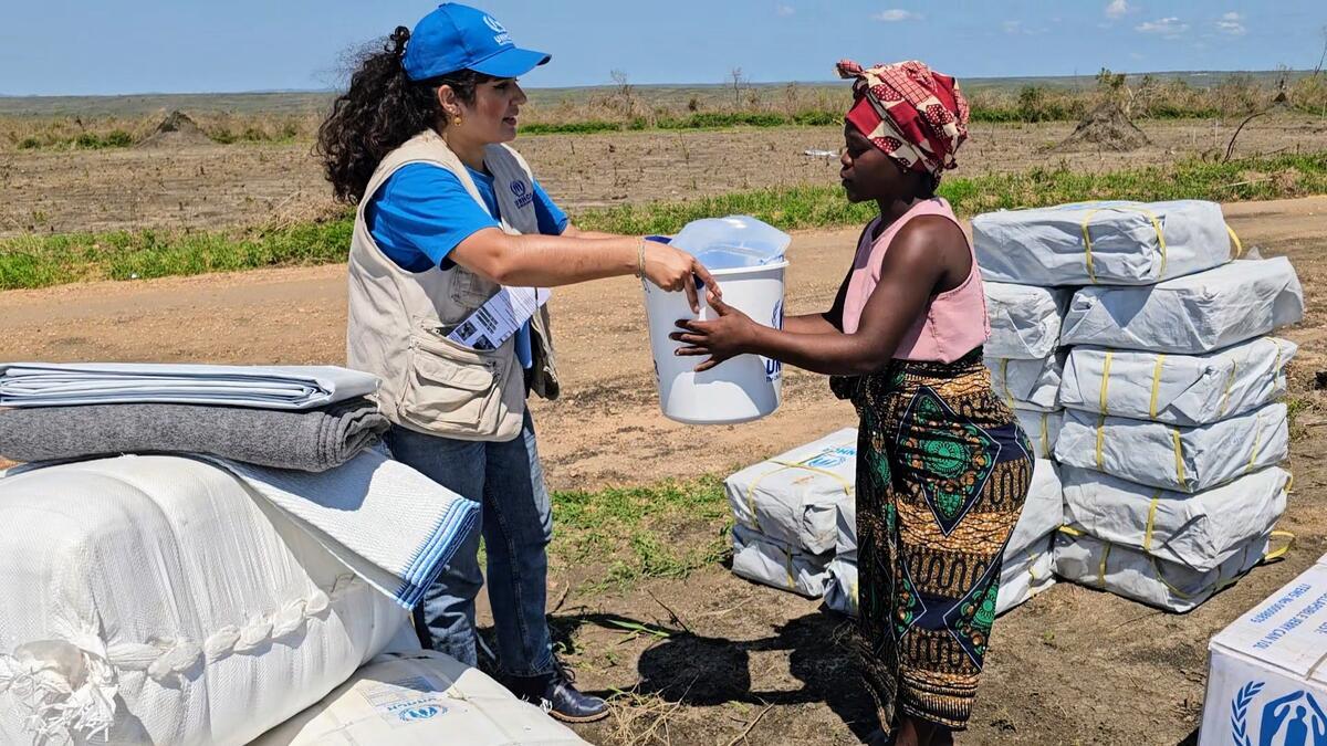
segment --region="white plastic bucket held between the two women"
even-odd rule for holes
[[[758,267],[713,269],[723,288],[723,301],[754,321],[783,328],[783,271],[787,261]],[[653,283],[645,284],[645,313],[650,325],[650,350],[654,353],[654,376],[658,382],[660,406],[669,419],[689,425],[723,425],[759,419],[779,408],[783,400],[783,364],[755,354],[740,354],[718,366],[697,373],[706,358],[678,356],[682,346],[669,338],[678,319],[715,319],[718,315],[705,301],[701,289],[701,313],[691,313],[686,293],[667,292]]]

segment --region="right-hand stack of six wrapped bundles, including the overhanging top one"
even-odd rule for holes
[[[1239,260],[1209,202],[1091,203],[973,220],[986,277],[1080,287],[1055,445],[1058,575],[1188,611],[1262,561],[1290,475],[1290,263]]]

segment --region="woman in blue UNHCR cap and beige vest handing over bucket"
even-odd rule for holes
[[[338,199],[358,204],[350,239],[348,362],[382,378],[399,461],[482,503],[488,599],[508,686],[568,721],[606,706],[572,686],[544,621],[552,535],[527,392],[557,396],[547,308],[495,349],[449,340],[502,285],[642,275],[686,289],[709,273],[641,236],[573,227],[525,161],[503,145],[525,102],[516,77],[549,60],[520,49],[483,11],[443,4],[362,58],[318,133]],[[500,344],[498,344],[500,341]],[[415,609],[421,641],[476,662],[479,532]]]

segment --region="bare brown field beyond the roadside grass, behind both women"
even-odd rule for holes
[[[1140,126],[1153,145],[1135,153],[1060,154],[1068,122],[974,125],[963,174],[1066,163],[1119,170],[1220,150],[1238,122],[1161,121]],[[540,182],[576,211],[794,183],[836,183],[839,127],[540,135],[518,141]],[[1263,117],[1239,135],[1241,155],[1327,145],[1327,121]],[[333,210],[311,142],[184,149],[0,154],[0,236],[23,232],[210,228],[300,220]]]

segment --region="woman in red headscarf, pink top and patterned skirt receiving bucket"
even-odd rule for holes
[[[955,81],[921,62],[863,69],[845,118],[843,186],[873,200],[833,307],[763,327],[711,300],[679,321],[678,354],[709,369],[743,353],[829,374],[861,419],[857,461],[864,678],[884,730],[908,746],[953,743],[990,644],[1001,560],[1032,477],[1027,437],[991,392],[977,261],[936,196],[967,137]]]

